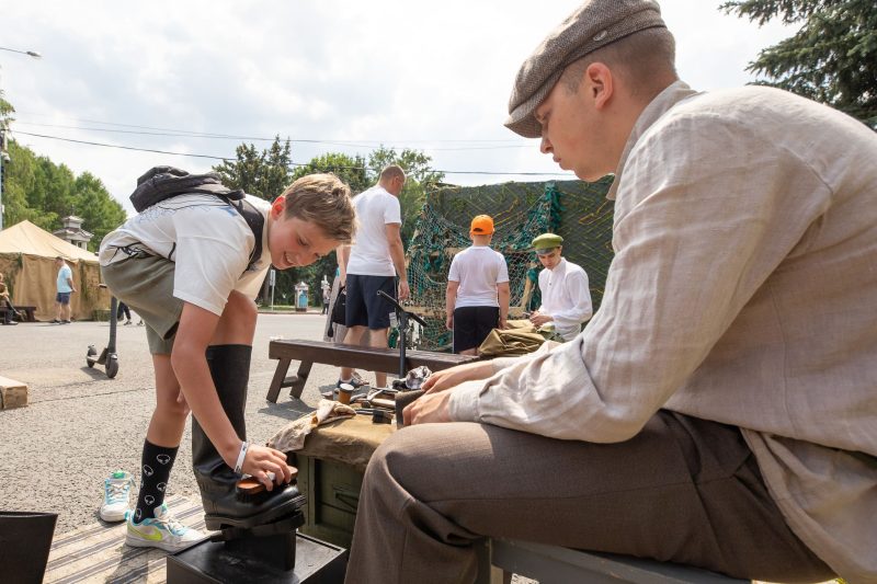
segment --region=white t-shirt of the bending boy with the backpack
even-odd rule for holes
[[[174,262],[173,296],[221,314],[232,290],[255,298],[271,266],[267,214],[271,204],[247,195],[265,217],[262,256],[247,270],[255,237],[228,203],[214,195],[178,195],[125,221],[101,242],[101,265],[144,250]],[[244,272],[246,271],[246,272]]]

